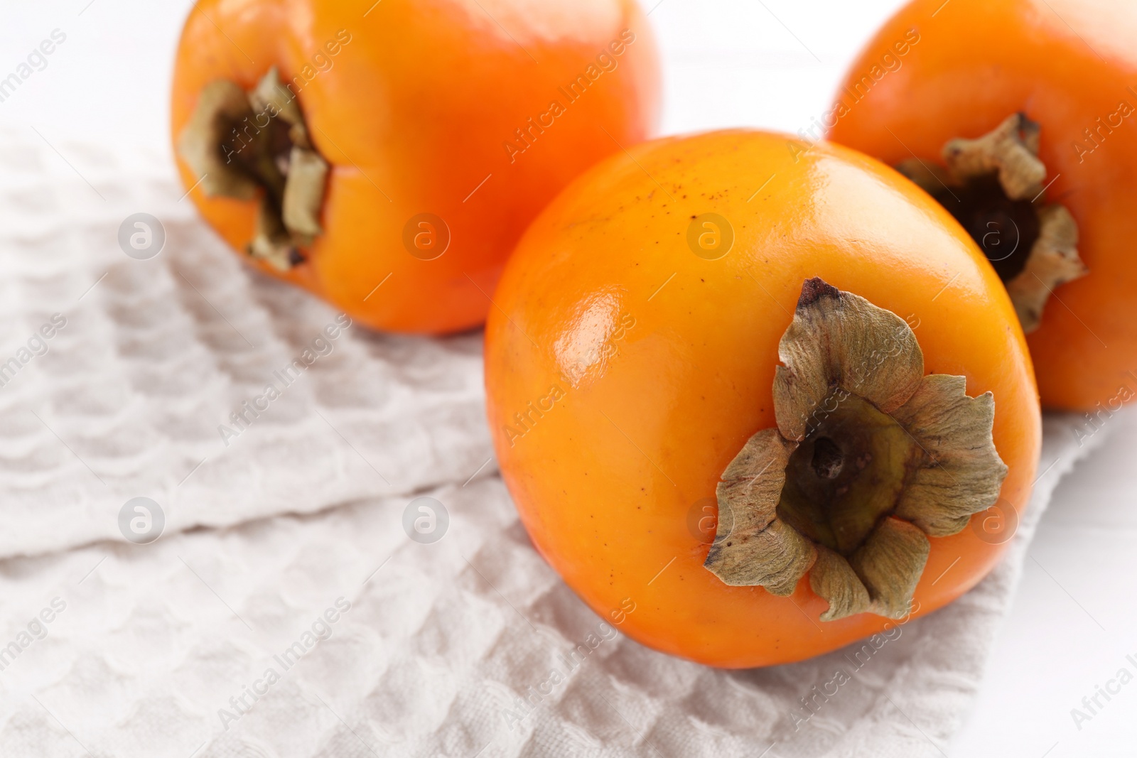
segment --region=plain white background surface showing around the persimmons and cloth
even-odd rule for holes
[[[44,70],[0,103],[0,126],[34,127],[60,160],[68,158],[68,143],[96,141],[132,151],[141,163],[169,161],[167,89],[190,5],[6,2],[3,74],[53,28],[67,41]],[[650,15],[663,51],[662,133],[807,127],[860,45],[899,5],[663,0]],[[82,170],[82,158],[69,158]],[[1127,653],[1137,658],[1132,427],[1106,424],[1103,434],[1115,433],[1060,486],[953,757],[1137,755],[1137,682],[1080,731],[1070,714],[1122,665],[1134,668]]]

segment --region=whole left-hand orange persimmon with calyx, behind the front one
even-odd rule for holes
[[[538,211],[648,136],[650,28],[633,0],[364,10],[197,3],[172,99],[182,180],[239,255],[363,324],[476,326]]]

